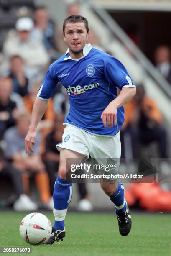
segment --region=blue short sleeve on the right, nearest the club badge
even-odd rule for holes
[[[105,60],[105,77],[107,81],[115,84],[120,90],[123,87],[135,87],[133,79],[128,74],[124,65],[112,56]]]

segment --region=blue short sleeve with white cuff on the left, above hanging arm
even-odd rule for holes
[[[54,93],[57,83],[58,79],[56,79],[56,77],[52,77],[50,71],[48,70],[45,78],[43,79],[43,83],[38,90],[37,97],[41,100],[50,99]]]

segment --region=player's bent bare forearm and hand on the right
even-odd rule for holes
[[[112,100],[102,112],[101,119],[105,127],[117,125],[117,108],[129,102],[136,93],[136,87],[123,87],[120,94]]]

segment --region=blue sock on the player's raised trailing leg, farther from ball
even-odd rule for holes
[[[117,189],[115,193],[110,196],[110,200],[115,205],[116,213],[125,212],[127,203],[124,198],[124,187],[120,182],[117,182]]]

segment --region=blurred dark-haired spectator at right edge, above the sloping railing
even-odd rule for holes
[[[171,84],[171,50],[166,45],[158,46],[154,52],[156,68]]]

